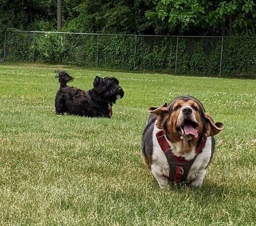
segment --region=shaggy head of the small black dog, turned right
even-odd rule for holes
[[[116,103],[117,99],[121,99],[125,95],[125,92],[123,92],[119,85],[119,81],[115,77],[102,78],[96,76],[93,82],[93,90],[110,103]]]

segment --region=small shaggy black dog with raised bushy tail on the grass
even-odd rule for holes
[[[80,116],[111,118],[113,103],[125,94],[115,77],[96,76],[93,89],[85,92],[67,86],[67,82],[74,80],[67,72],[63,70],[56,72],[55,77],[61,84],[55,98],[56,114],[59,115],[67,112]]]

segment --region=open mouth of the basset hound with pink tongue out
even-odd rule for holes
[[[197,121],[191,121],[189,119],[185,119],[183,125],[177,127],[177,132],[182,137],[198,137],[197,127],[199,123]]]

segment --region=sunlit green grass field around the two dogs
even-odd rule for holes
[[[89,71],[116,76],[112,119],[54,114],[58,66],[0,64],[0,225],[255,225],[256,80]],[[200,189],[160,190],[142,164],[147,108],[197,97],[225,124]]]

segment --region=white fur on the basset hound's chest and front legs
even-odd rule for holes
[[[153,129],[152,139],[153,139],[153,153],[152,153],[152,164],[151,172],[156,177],[159,182],[159,186],[163,188],[169,184],[167,176],[169,175],[169,164],[163,150],[156,139],[156,133],[159,132],[156,126]],[[168,141],[169,142],[169,141]],[[203,182],[203,178],[206,175],[206,167],[210,161],[211,157],[211,137],[207,137],[207,141],[203,150],[200,154],[197,155],[194,163],[192,164],[189,173],[187,174],[187,181],[192,181],[191,185],[200,186]],[[180,145],[173,144],[169,142],[169,145],[172,147],[173,154],[176,156],[182,156],[186,160],[193,159],[195,157],[195,149],[191,153],[180,155]]]

